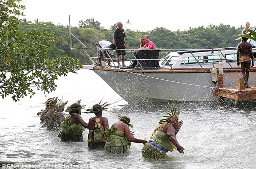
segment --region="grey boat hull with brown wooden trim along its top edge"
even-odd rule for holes
[[[210,70],[204,71],[143,71],[132,72],[94,69],[117,94],[128,103],[175,101],[217,101],[212,90],[217,88],[211,80]],[[255,85],[256,72],[250,72],[249,85]],[[239,70],[223,75],[223,86],[237,86],[242,78]]]

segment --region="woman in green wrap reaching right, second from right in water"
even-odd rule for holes
[[[111,129],[115,132],[107,138],[105,150],[108,154],[126,154],[129,152],[130,142],[147,143],[147,140],[137,139],[132,136],[129,128],[130,118],[122,116],[119,122],[114,123]],[[128,147],[129,145],[129,147]]]

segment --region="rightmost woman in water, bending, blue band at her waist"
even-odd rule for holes
[[[156,127],[150,140],[142,149],[142,156],[144,158],[162,160],[167,158],[165,153],[168,151],[172,152],[173,149],[177,149],[178,152],[184,153],[185,149],[176,139],[176,134],[183,123],[183,121],[178,120],[179,116],[175,114]]]

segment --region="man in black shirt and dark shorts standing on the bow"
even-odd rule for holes
[[[122,28],[122,22],[117,22],[117,29],[114,33],[113,43],[116,44],[117,49],[125,49],[128,47],[125,41],[125,33],[124,29]],[[117,64],[119,67],[121,67],[119,55],[122,55],[122,67],[126,67],[124,64],[125,54],[125,50],[117,50]]]

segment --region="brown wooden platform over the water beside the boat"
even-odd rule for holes
[[[239,91],[237,86],[217,88],[213,91],[213,96],[234,99],[235,101],[254,100],[256,99],[256,86],[250,86],[245,90]]]

